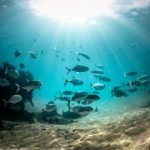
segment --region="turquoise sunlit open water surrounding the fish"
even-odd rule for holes
[[[134,15],[133,12],[137,12]],[[124,72],[136,71],[139,77],[150,73],[150,8],[130,10],[120,13],[118,18],[96,18],[96,23],[60,24],[46,17],[36,16],[31,10],[9,1],[0,4],[0,62],[8,61],[19,70],[19,64],[26,65],[34,79],[43,83],[40,90],[34,91],[34,103],[46,104],[59,95],[59,91],[71,90],[92,92],[90,83],[99,82],[90,73],[96,69],[95,64],[104,66],[104,75],[112,79],[105,83],[106,88],[100,91],[100,100],[91,106],[114,107],[142,103],[149,100],[149,86],[138,87],[138,92],[129,93],[126,98],[111,97],[110,87],[135,79],[125,77]],[[14,57],[18,50],[22,55]],[[28,51],[37,53],[31,59]],[[60,52],[57,52],[59,50]],[[43,54],[41,54],[43,51]],[[91,60],[80,57],[77,52],[90,56]],[[58,55],[58,57],[56,56]],[[63,61],[62,58],[65,60]],[[70,72],[65,67],[73,68],[83,64],[90,68],[85,73]],[[81,86],[67,84],[64,78],[80,78]],[[67,109],[66,102],[57,100],[59,109]],[[111,107],[113,107],[111,106]],[[41,105],[41,108],[43,105]],[[63,108],[62,108],[63,107]]]

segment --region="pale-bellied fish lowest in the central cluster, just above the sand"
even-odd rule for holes
[[[93,108],[90,106],[74,106],[72,111],[80,114],[82,117],[90,114],[93,111]]]

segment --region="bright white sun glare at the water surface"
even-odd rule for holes
[[[97,16],[114,15],[114,0],[30,0],[29,6],[39,16],[60,22],[85,23]]]

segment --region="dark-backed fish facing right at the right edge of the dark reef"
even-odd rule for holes
[[[21,88],[26,90],[27,92],[30,92],[34,89],[40,88],[41,86],[42,86],[41,82],[32,80],[32,81],[27,81],[26,85]]]

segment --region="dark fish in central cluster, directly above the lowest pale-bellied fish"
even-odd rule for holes
[[[88,93],[84,92],[84,91],[75,92],[72,97],[72,101],[76,101],[76,102],[80,103],[80,101],[84,100],[87,95],[88,95]]]

